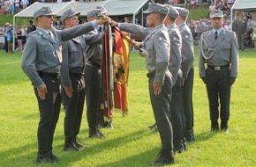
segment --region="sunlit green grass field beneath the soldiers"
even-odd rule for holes
[[[230,134],[210,134],[205,85],[198,74],[196,48],[193,87],[195,142],[175,155],[175,166],[255,166],[256,164],[256,52],[240,53],[239,74],[232,86]],[[33,87],[20,69],[21,52],[0,51],[0,166],[35,166],[39,112]],[[64,152],[64,111],[54,138],[56,166],[147,166],[161,149],[158,133],[147,129],[154,122],[147,91],[143,58],[132,53],[129,77],[129,115],[115,111],[114,129],[102,129],[105,140],[89,139],[86,110],[79,138],[89,146],[80,152]],[[47,166],[45,164],[37,166]]]

